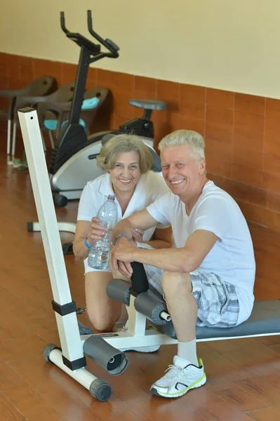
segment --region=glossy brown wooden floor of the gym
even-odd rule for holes
[[[172,363],[175,345],[155,354],[129,353],[126,372],[116,377],[88,361],[88,369],[113,387],[105,403],[43,359],[44,346],[59,342],[41,234],[26,229],[27,221],[37,220],[32,188],[28,174],[7,165],[3,134],[0,140],[0,420],[279,421],[280,337],[200,342],[208,381],[174,400],[150,395],[149,387]],[[76,210],[76,202],[58,209],[58,220],[74,221]],[[252,224],[250,229],[256,298],[279,299],[280,233]],[[72,298],[82,307],[83,264],[73,255],[65,262]]]

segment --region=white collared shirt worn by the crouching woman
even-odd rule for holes
[[[166,182],[161,175],[152,171],[141,174],[124,215],[121,214],[121,206],[117,199],[115,199],[118,208],[117,222],[121,219],[128,218],[128,216],[133,215],[133,213],[138,212],[138,210],[147,208],[150,203],[153,203],[167,192],[170,192],[170,189],[167,187]],[[93,181],[89,181],[81,193],[77,220],[91,221],[91,218],[98,215],[100,206],[107,201],[109,194],[114,194],[114,191],[108,173],[100,175],[100,177],[95,178]],[[167,226],[169,225],[170,224]],[[159,224],[147,229],[143,235],[144,241],[151,239],[156,227],[166,228],[166,225]]]

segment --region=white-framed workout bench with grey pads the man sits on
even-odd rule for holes
[[[117,298],[126,304],[129,302],[128,331],[80,336],[76,305],[72,301],[60,247],[58,222],[55,217],[44,149],[39,142],[41,133],[36,111],[26,108],[20,110],[18,115],[51,279],[52,304],[61,345],[61,348],[53,344],[47,345],[43,354],[47,361],[55,363],[86,387],[96,399],[107,401],[112,394],[112,387],[86,370],[84,354],[108,373],[119,375],[128,365],[128,359],[124,352],[119,350],[120,348],[177,343],[171,316],[164,307],[164,302],[161,302],[161,309],[153,314],[154,302],[149,297],[149,285],[144,268],[140,263],[134,262],[131,288],[128,289],[127,284],[118,279],[110,281],[107,288],[110,298]],[[119,292],[116,293],[116,290]],[[141,298],[143,295],[144,299]],[[135,305],[137,300],[141,301],[140,305]],[[157,302],[156,306],[159,304]],[[138,311],[135,307],[138,307]],[[149,318],[154,326],[160,321],[161,324],[156,326],[157,330],[145,330],[146,318]],[[248,321],[236,328],[196,328],[198,341],[268,335],[280,335],[280,300],[255,302]]]

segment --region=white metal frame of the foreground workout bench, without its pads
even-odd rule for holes
[[[18,112],[18,115],[25,145],[29,174],[32,181],[36,210],[39,216],[39,228],[41,229],[44,243],[53,298],[59,305],[65,305],[72,302],[72,297],[69,290],[65,260],[60,245],[60,234],[55,215],[51,185],[48,178],[44,148],[42,142],[39,141],[41,140],[39,122],[34,109],[22,110],[22,112]],[[100,334],[102,338],[116,349],[177,343],[177,340],[169,338],[167,335],[164,335],[157,330],[146,330],[146,317],[135,311],[134,300],[134,297],[131,295],[128,331]],[[60,314],[55,312],[55,316],[58,323],[58,333],[62,352],[60,349],[53,349],[49,354],[49,359],[64,370],[65,373],[69,374],[77,382],[89,389],[91,382],[97,377],[92,373],[89,373],[85,368],[79,368],[72,371],[67,368],[62,361],[62,355],[69,361],[83,358],[83,345],[89,336],[79,335],[79,327],[75,312],[67,314],[67,316],[60,316]],[[275,334],[276,333],[267,335]],[[198,342],[248,338],[254,336],[260,335],[246,335],[232,338],[205,338],[198,340]]]

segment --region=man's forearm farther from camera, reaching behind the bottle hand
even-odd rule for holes
[[[114,241],[116,239],[116,236],[119,234],[126,234],[128,240],[132,239],[132,232],[131,228],[140,228],[143,231],[146,231],[146,229],[154,227],[154,225],[157,225],[159,221],[156,221],[151,215],[149,215],[149,212],[146,209],[140,210],[139,212],[134,213],[131,216],[128,216],[128,218],[125,218],[124,220],[120,220],[114,229],[114,234],[112,237],[112,243],[114,244]],[[119,237],[119,239],[124,239],[125,237]],[[117,241],[119,241],[119,239]]]

